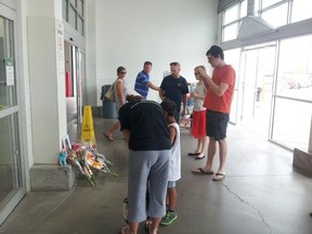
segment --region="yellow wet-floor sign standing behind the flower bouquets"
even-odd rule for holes
[[[83,107],[81,140],[91,142],[93,145],[96,145],[93,119],[92,119],[92,110],[90,105],[84,105]]]

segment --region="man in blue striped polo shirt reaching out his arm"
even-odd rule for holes
[[[160,88],[153,84],[150,81],[150,73],[152,70],[153,64],[146,61],[143,66],[143,70],[140,72],[135,79],[134,90],[146,100],[148,94],[148,89],[160,91]]]

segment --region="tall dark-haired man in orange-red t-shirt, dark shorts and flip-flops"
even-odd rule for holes
[[[214,68],[212,77],[205,69],[197,68],[199,79],[207,88],[204,102],[206,107],[206,131],[209,136],[208,159],[204,168],[192,170],[193,173],[213,174],[212,162],[219,143],[220,166],[213,181],[225,178],[225,159],[227,153],[226,128],[230,119],[231,103],[235,87],[235,70],[224,62],[223,50],[212,46],[206,53],[208,62]]]

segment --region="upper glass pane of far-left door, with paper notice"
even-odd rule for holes
[[[13,22],[0,17],[0,110],[16,105],[13,41]]]

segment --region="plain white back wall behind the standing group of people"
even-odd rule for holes
[[[90,100],[91,105],[101,105],[101,87],[113,82],[119,65],[127,68],[126,80],[131,89],[145,61],[154,64],[151,80],[157,86],[172,61],[181,63],[181,75],[188,81],[195,81],[196,65],[210,68],[205,53],[217,40],[218,1],[92,0],[91,3],[95,4],[94,14],[88,11],[87,22],[95,15],[95,23],[90,21],[87,31],[95,27],[95,32],[94,38],[88,35],[87,51],[96,53],[96,64],[89,63],[87,67],[87,79],[94,79],[94,75],[96,79],[96,96],[93,90],[95,100]],[[158,100],[153,90],[148,95]]]

